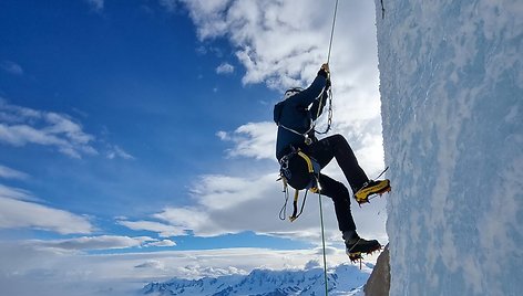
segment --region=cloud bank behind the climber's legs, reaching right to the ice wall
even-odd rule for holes
[[[253,171],[249,168],[245,168],[244,171],[245,175],[242,177],[202,176],[192,186],[195,188],[191,191],[194,205],[167,207],[152,216],[167,225],[184,232],[191,231],[192,234],[203,237],[253,231],[257,234],[298,239],[312,243],[319,242],[317,194],[308,194],[304,214],[297,222],[280,221],[278,216],[285,199],[281,192],[281,182],[276,182],[277,168],[268,173],[259,170]],[[326,171],[332,178],[343,180],[339,169],[327,168]],[[287,216],[293,210],[291,199],[293,197],[287,204]],[[304,192],[300,193],[299,202],[301,203],[302,200]],[[329,242],[340,242],[341,236],[332,202],[326,197],[322,200],[326,237]],[[372,236],[382,243],[387,242],[384,203],[386,198],[375,199],[371,204],[366,204],[365,209],[360,210],[352,202],[352,215],[360,235]],[[140,221],[140,224],[145,222]],[[140,229],[145,229],[145,226],[137,228],[137,230]],[[162,229],[148,226],[147,230],[156,231],[163,235],[161,234]]]

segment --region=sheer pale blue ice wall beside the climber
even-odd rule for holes
[[[375,2],[390,295],[521,295],[523,1]]]

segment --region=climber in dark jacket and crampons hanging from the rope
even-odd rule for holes
[[[284,101],[275,105],[274,120],[278,125],[276,158],[281,165],[280,175],[290,187],[297,190],[314,188],[332,199],[347,254],[356,261],[362,253],[380,250],[381,245],[377,240],[369,241],[358,235],[350,212],[349,190],[320,170],[336,158],[360,204],[368,202],[371,194],[390,191],[390,182],[370,180],[343,136],[337,134],[319,140],[316,137],[314,121],[322,114],[330,85],[329,65],[326,63],[309,87],[288,89]],[[311,163],[309,169],[304,162],[306,158],[309,158],[306,162]]]

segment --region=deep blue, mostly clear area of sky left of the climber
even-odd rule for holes
[[[279,95],[242,85],[227,42],[198,41],[182,7],[89,4],[3,4],[2,109],[21,121],[7,121],[4,134],[24,124],[40,135],[4,135],[0,149],[2,166],[24,175],[6,186],[89,215],[104,233],[115,216],[189,204],[198,176],[227,167],[216,133],[268,118]]]

